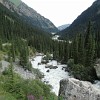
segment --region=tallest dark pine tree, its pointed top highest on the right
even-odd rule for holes
[[[87,28],[87,34],[85,38],[85,66],[93,66],[95,54],[95,40],[91,31],[91,23],[89,22]]]

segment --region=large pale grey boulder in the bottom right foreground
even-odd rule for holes
[[[87,81],[63,79],[60,81],[60,97],[62,100],[100,100],[100,90]]]

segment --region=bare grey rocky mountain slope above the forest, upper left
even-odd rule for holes
[[[25,20],[29,24],[42,28],[48,32],[58,31],[56,26],[49,19],[41,16],[34,9],[28,7],[21,0],[0,0],[0,2],[12,12],[16,12],[21,17],[23,17],[23,20]]]

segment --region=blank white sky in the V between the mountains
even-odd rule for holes
[[[54,25],[71,24],[95,0],[22,0]]]

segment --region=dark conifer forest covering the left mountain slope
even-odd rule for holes
[[[16,45],[19,46],[22,43],[19,42],[24,39],[24,42],[27,42],[28,46],[38,52],[58,53],[61,56],[62,44],[65,42],[53,41],[50,34],[27,24],[16,13],[10,12],[2,4],[0,5],[0,15],[1,46],[7,42],[17,43]],[[59,49],[61,50],[59,51]]]

